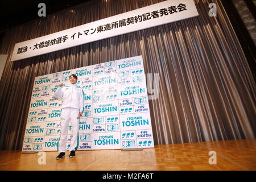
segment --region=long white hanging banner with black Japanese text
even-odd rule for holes
[[[141,9],[16,43],[11,61],[198,16],[193,0],[168,0]]]

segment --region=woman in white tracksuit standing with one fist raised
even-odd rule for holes
[[[63,98],[61,105],[61,134],[57,150],[59,155],[56,159],[62,159],[67,151],[67,136],[69,121],[72,126],[72,140],[69,148],[69,158],[75,157],[75,151],[79,146],[79,118],[82,116],[84,110],[84,92],[80,86],[77,86],[77,76],[69,76],[70,84],[63,86],[59,84],[54,96],[56,98]]]

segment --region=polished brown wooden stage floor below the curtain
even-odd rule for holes
[[[209,164],[209,151],[217,164]],[[57,152],[46,152],[46,164],[38,153],[0,151],[0,170],[256,170],[256,139],[163,144],[142,151],[77,151],[69,159],[56,160]]]

